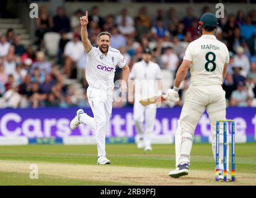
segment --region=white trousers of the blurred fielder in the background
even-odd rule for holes
[[[139,139],[143,139],[144,146],[151,146],[151,136],[156,122],[156,104],[143,106],[135,99],[133,104],[133,119],[135,120],[136,132]],[[143,122],[145,121],[145,127]]]

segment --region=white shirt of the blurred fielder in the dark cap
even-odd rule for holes
[[[129,78],[134,80],[135,99],[142,100],[157,95],[157,80],[162,79],[162,74],[158,64],[142,60],[133,65]]]

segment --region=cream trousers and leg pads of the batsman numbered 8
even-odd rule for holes
[[[190,85],[185,93],[185,103],[182,108],[182,113],[180,114],[178,128],[175,134],[176,166],[179,165],[179,163],[190,163],[190,152],[195,127],[205,110],[210,119],[211,137],[213,141],[212,149],[213,156],[215,157],[216,121],[226,119],[225,92],[221,85]],[[219,165],[223,166],[223,125],[219,127],[219,134]]]

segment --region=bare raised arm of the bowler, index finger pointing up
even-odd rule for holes
[[[89,38],[88,38],[88,32],[87,32],[87,24],[88,21],[88,12],[86,11],[86,15],[80,17],[80,23],[81,23],[81,37],[82,37],[82,44],[84,45],[84,49],[86,49],[86,53],[92,49],[92,44],[90,44]]]

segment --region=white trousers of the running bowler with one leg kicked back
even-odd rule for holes
[[[92,87],[87,88],[87,97],[94,118],[82,114],[81,123],[88,124],[95,130],[98,157],[106,156],[105,137],[107,134],[109,119],[112,113],[113,90],[100,90]]]

